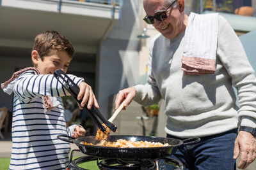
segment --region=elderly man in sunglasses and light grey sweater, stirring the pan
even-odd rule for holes
[[[256,79],[236,33],[218,13],[188,17],[184,0],[143,5],[145,22],[161,34],[150,43],[148,83],[120,90],[116,108],[163,98],[167,137],[201,138],[172,155],[186,169],[236,169],[239,153],[246,168],[256,157]]]

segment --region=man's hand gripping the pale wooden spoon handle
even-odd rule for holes
[[[124,90],[120,90],[118,92],[118,94],[116,95],[116,101],[115,101],[115,104],[116,104],[116,108],[117,109],[120,104],[124,101],[124,109],[125,110],[125,107],[127,107],[132,99],[136,96],[136,89],[135,87],[129,87],[127,89],[124,89]]]

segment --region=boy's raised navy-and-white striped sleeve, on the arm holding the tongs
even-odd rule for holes
[[[79,85],[83,81],[83,78],[77,78],[72,74],[68,74],[68,76],[76,85]],[[33,98],[42,96],[70,96],[53,74],[35,75],[24,73],[15,81],[13,92],[25,103],[28,103]],[[63,84],[65,85],[64,82]]]

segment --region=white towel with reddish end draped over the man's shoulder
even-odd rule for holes
[[[184,36],[182,70],[185,75],[214,74],[218,43],[218,13],[189,15]]]

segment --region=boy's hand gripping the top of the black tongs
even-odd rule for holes
[[[78,100],[81,100],[83,97],[83,100],[81,102],[81,106],[78,104],[79,108],[82,110],[83,106],[87,103],[87,108],[90,110],[92,108],[92,104],[94,104],[94,106],[99,109],[99,104],[96,100],[96,97],[93,94],[92,91],[92,87],[90,87],[90,85],[86,84],[85,82],[81,82],[79,84],[79,94],[77,96]]]

